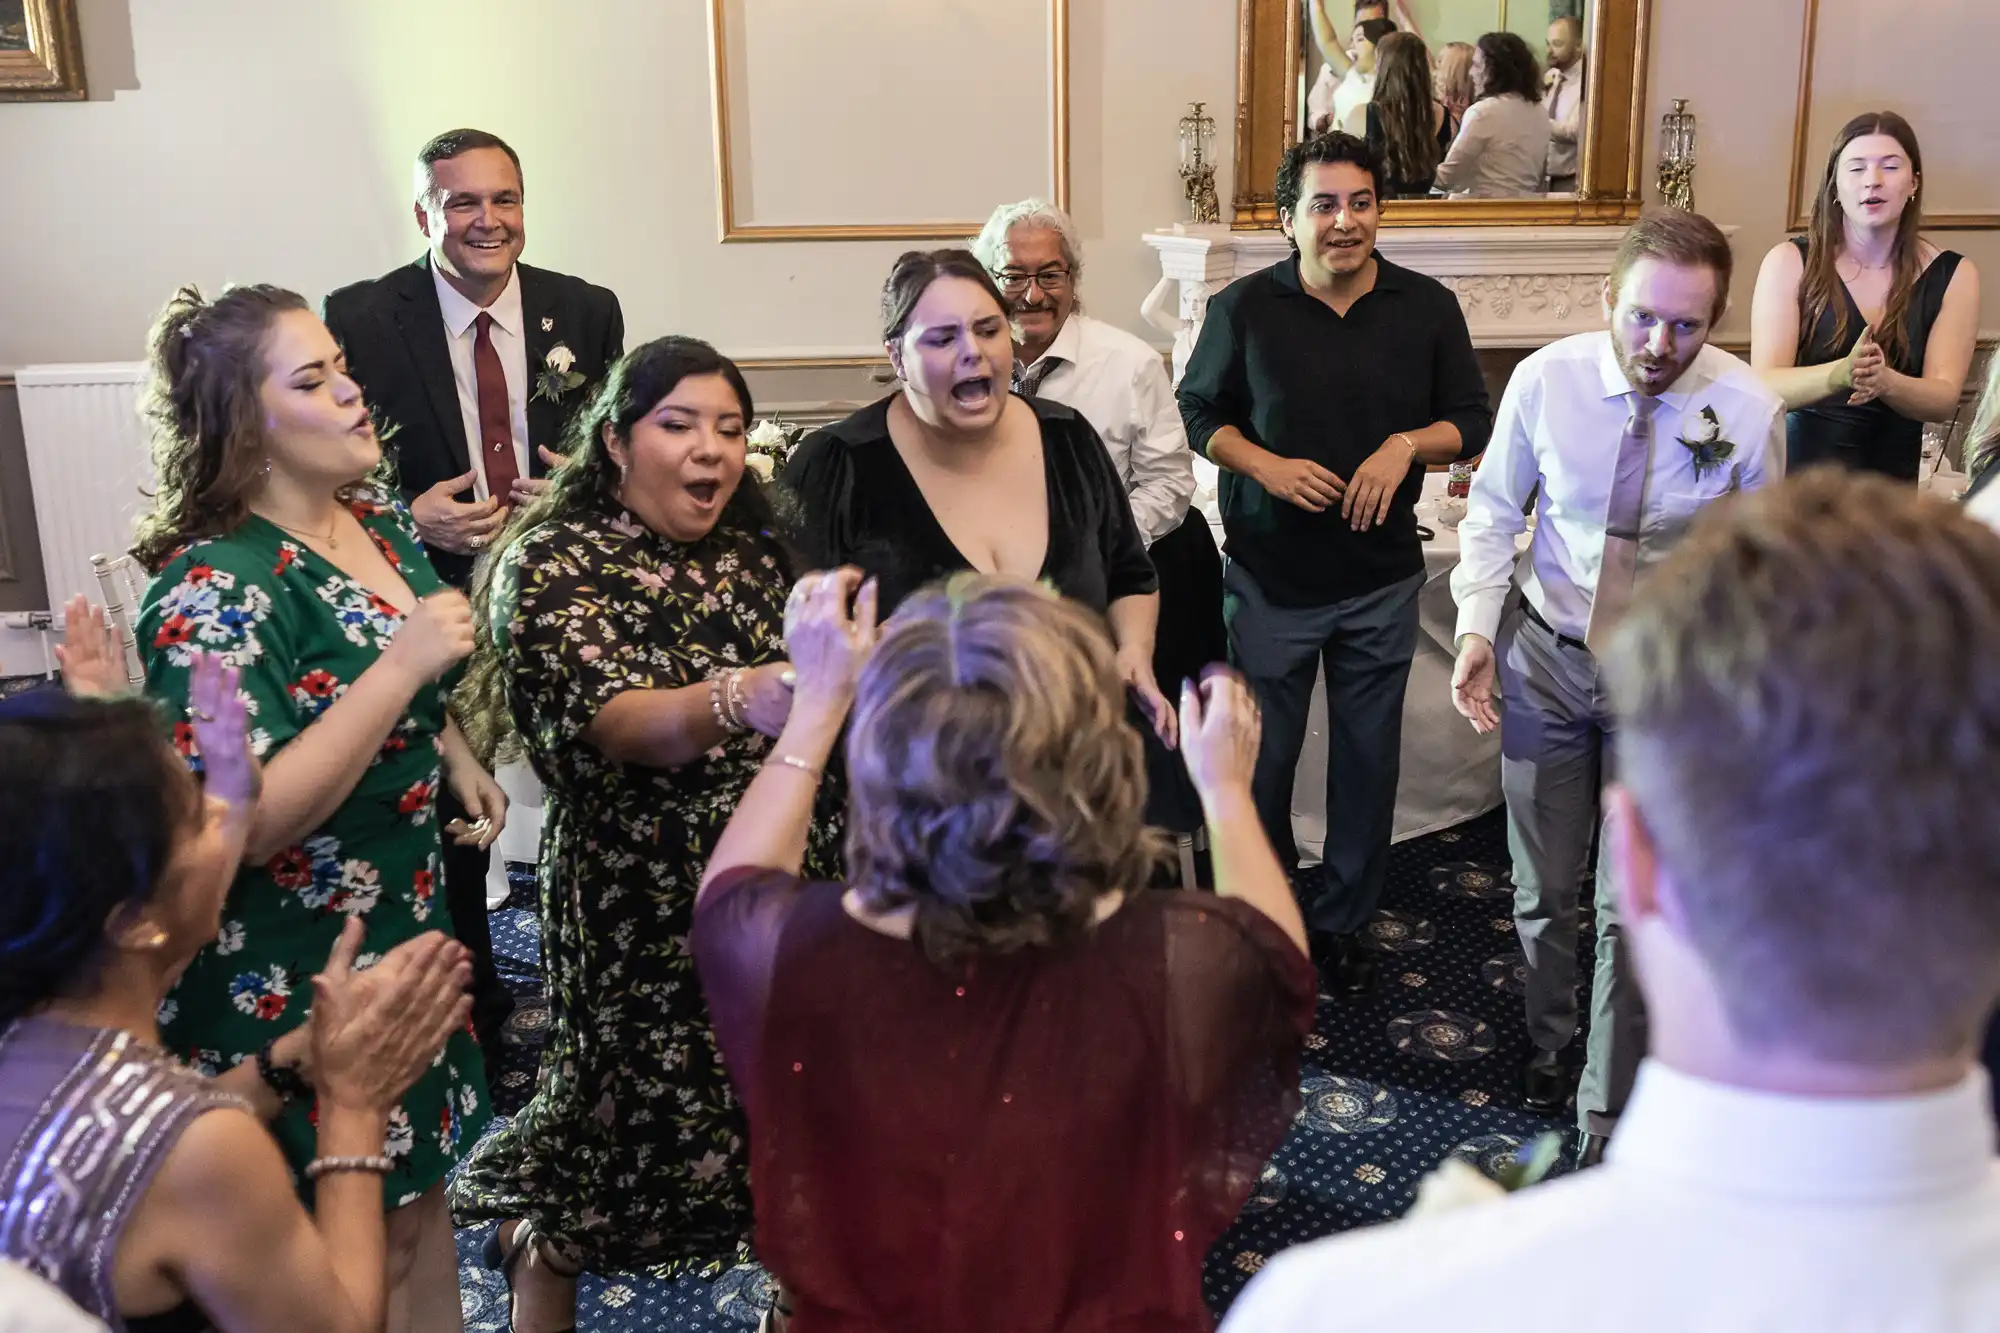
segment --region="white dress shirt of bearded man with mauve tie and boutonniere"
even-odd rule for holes
[[[1582,638],[1604,564],[1604,518],[1612,502],[1618,444],[1638,390],[1618,368],[1608,332],[1574,334],[1532,352],[1514,370],[1472,496],[1458,524],[1458,636],[1492,642],[1500,606],[1518,578],[1522,594],[1560,634]],[[1682,438],[1700,426],[1702,408],[1722,422],[1734,454],[1704,476]],[[1640,520],[1638,568],[1660,560],[1704,504],[1734,488],[1756,488],[1784,474],[1784,402],[1764,380],[1716,346],[1660,394],[1652,416],[1652,466]],[[1536,528],[1516,570],[1514,538],[1536,492]]]

